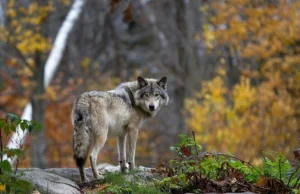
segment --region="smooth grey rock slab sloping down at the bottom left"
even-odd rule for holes
[[[40,169],[21,170],[19,178],[31,182],[40,193],[80,193],[79,186],[74,181]]]

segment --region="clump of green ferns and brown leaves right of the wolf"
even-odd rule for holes
[[[164,178],[156,185],[168,193],[242,192],[299,193],[299,166],[295,169],[282,154],[264,156],[253,166],[231,154],[204,152],[193,136],[171,147],[178,157],[159,164],[154,172]]]

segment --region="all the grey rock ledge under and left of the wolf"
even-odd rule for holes
[[[111,164],[99,164],[100,174],[105,172],[119,172],[120,166]],[[139,166],[134,174],[125,174],[128,181],[148,182],[153,178],[159,179],[160,176],[150,172],[151,168]],[[85,168],[87,177],[93,180],[93,173],[90,168]],[[49,168],[41,170],[38,168],[18,169],[21,179],[29,181],[40,193],[80,193],[79,186],[81,183],[79,171],[77,168]]]

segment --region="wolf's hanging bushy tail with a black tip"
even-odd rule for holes
[[[78,167],[83,167],[91,146],[91,119],[88,112],[89,105],[84,104],[84,102],[80,103],[79,101],[80,100],[77,100],[74,104],[72,112],[72,122],[74,125],[73,151],[76,165]]]

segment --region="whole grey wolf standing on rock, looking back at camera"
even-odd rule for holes
[[[102,178],[97,169],[97,157],[109,136],[118,138],[121,172],[127,169],[128,141],[127,162],[129,170],[134,170],[138,131],[146,119],[154,117],[168,102],[167,77],[160,80],[138,77],[136,81],[121,83],[114,90],[81,94],[74,101],[71,115],[74,160],[81,181],[89,181],[83,168],[87,158],[94,178]]]

